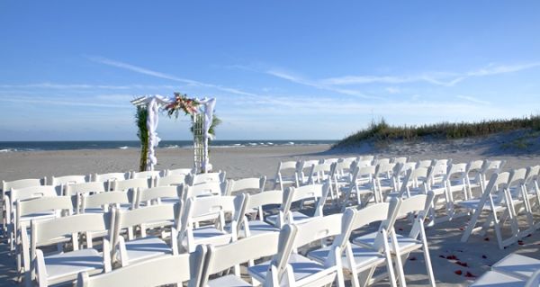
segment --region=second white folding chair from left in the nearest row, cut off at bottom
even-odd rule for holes
[[[278,242],[279,232],[271,232],[254,235],[219,247],[208,246],[208,256],[202,272],[201,286],[252,286],[240,277],[239,265],[253,262],[262,257],[274,256],[277,253]],[[211,274],[227,271],[230,267],[233,267],[233,274],[209,279]]]

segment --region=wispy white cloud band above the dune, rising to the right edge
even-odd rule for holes
[[[324,85],[366,85],[366,84],[407,84],[414,82],[426,82],[433,85],[451,86],[470,77],[492,76],[515,73],[540,67],[540,62],[530,62],[514,65],[495,65],[470,70],[464,73],[430,72],[416,76],[337,76],[320,79],[317,82]]]

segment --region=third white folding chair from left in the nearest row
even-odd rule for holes
[[[341,265],[342,251],[338,244],[332,246],[323,264],[294,251],[312,242],[340,235],[342,217],[342,214],[332,214],[294,224],[296,234],[293,240],[288,240],[288,246],[278,247],[278,255],[272,261],[248,267],[248,273],[264,285],[272,283],[274,286],[325,286],[336,283],[338,286],[345,286]]]

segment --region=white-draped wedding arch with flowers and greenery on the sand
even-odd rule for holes
[[[197,173],[211,170],[208,155],[208,142],[213,139],[211,125],[214,121],[215,98],[188,98],[185,94],[175,93],[173,97],[159,94],[144,95],[131,101],[137,107],[136,123],[141,142],[139,170],[154,170],[157,164],[156,148],[159,144],[157,123],[159,111],[166,111],[169,117],[180,114],[189,115],[193,131],[193,167]]]

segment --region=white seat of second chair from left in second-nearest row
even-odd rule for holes
[[[130,264],[157,256],[173,254],[171,247],[157,237],[137,238],[127,241],[126,251]]]

